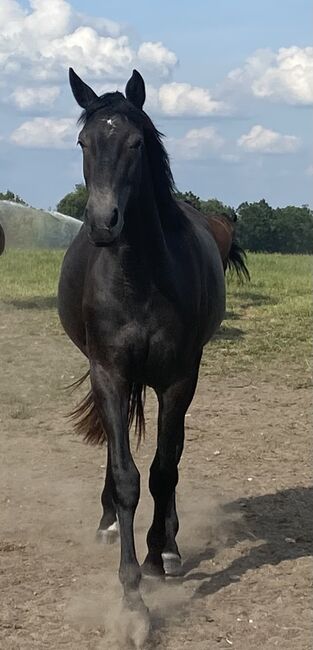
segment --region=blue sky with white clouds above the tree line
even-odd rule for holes
[[[312,204],[311,23],[310,0],[2,0],[0,191],[54,207],[82,178],[68,66],[97,92],[137,67],[179,189]]]

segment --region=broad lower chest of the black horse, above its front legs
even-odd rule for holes
[[[157,294],[138,302],[123,302],[102,293],[96,305],[85,308],[91,356],[110,359],[135,380],[153,385],[172,375],[186,353],[186,332],[174,307]]]

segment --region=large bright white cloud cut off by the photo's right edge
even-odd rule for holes
[[[288,104],[313,103],[313,47],[257,50],[228,75],[230,85],[255,97]]]

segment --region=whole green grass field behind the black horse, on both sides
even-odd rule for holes
[[[9,250],[0,258],[0,298],[42,309],[59,331],[55,296],[62,251]],[[210,372],[278,360],[306,369],[311,357],[312,282],[308,255],[250,254],[251,282],[227,280],[227,315],[204,353]],[[48,313],[47,313],[48,312]]]

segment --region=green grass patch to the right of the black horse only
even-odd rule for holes
[[[208,346],[225,369],[276,361],[306,368],[311,358],[312,268],[308,255],[249,254],[251,282],[227,281],[227,317]]]

